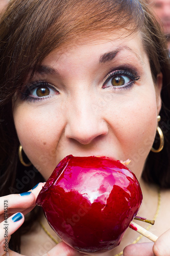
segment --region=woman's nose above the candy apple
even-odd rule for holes
[[[94,111],[93,106],[94,103],[84,97],[71,104],[67,112],[66,138],[86,145],[108,133],[108,125],[102,112],[96,109]]]

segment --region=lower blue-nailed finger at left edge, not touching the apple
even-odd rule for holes
[[[4,220],[0,224],[0,243],[7,241],[9,236],[11,236],[11,234],[13,234],[23,222],[24,216],[21,212],[17,212],[17,214],[14,214],[10,218]]]

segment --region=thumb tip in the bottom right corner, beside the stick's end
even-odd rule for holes
[[[154,255],[170,256],[170,229],[164,232],[153,246]]]

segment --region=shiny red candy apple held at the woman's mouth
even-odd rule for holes
[[[119,245],[141,205],[135,175],[106,157],[65,157],[40,191],[36,204],[58,236],[85,253]]]

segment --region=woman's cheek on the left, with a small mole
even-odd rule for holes
[[[56,167],[57,151],[61,150],[64,121],[63,115],[57,113],[61,111],[47,107],[39,110],[17,108],[14,111],[15,127],[23,151],[45,179]]]

